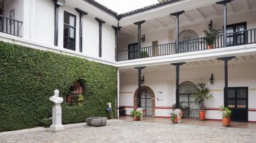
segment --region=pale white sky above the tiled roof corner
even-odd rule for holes
[[[157,4],[158,0],[96,0],[98,3],[110,8],[116,13],[126,13],[138,8]]]

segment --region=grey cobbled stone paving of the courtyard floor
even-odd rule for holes
[[[57,133],[46,131],[1,135],[12,142],[256,142],[256,130],[141,121],[108,121],[104,127],[81,125]]]

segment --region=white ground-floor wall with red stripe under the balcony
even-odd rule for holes
[[[167,71],[143,72],[145,83],[153,92],[162,92],[162,101],[155,100],[155,107],[172,107],[175,101],[175,70],[171,65]],[[214,84],[209,83],[210,75],[214,74]],[[198,67],[180,69],[180,83],[191,81],[193,83],[207,82],[214,98],[206,102],[207,108],[219,108],[224,104],[224,65],[215,67]],[[229,65],[229,87],[248,87],[249,109],[256,109],[256,63],[237,64],[235,67]],[[138,87],[136,73],[120,74],[120,106],[128,106],[127,114],[132,110],[134,91]],[[155,109],[155,116],[169,116],[171,109]],[[207,111],[206,118],[220,119],[218,111]],[[255,111],[249,111],[249,121],[256,121]]]

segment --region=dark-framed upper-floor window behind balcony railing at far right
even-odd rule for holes
[[[237,46],[247,43],[246,22],[226,26],[227,46]]]

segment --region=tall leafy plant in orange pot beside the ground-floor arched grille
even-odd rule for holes
[[[200,121],[205,121],[205,100],[210,100],[213,98],[210,94],[208,88],[206,88],[206,83],[198,83],[198,89],[196,90],[196,102],[199,104],[199,119]]]

